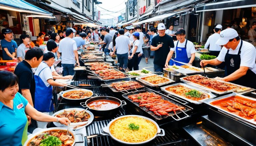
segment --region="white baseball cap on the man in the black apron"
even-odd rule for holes
[[[238,37],[238,33],[233,28],[227,28],[220,32],[220,38],[216,42],[217,45],[226,45],[229,40]]]

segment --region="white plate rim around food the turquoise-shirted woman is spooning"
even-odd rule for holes
[[[83,109],[83,108],[67,108],[67,109],[62,109],[62,110],[59,110],[59,111],[55,112],[52,116],[55,116],[55,115],[57,115],[57,114],[59,114],[59,113],[62,113],[62,112],[64,112],[64,110],[74,110],[74,109],[79,110],[79,111],[85,110],[85,109]],[[77,130],[78,130],[78,129],[81,129],[81,128],[83,128],[83,127],[88,126],[88,125],[91,124],[91,122],[93,121],[93,119],[94,119],[93,113],[90,112],[90,111],[88,111],[88,110],[86,110],[86,112],[89,113],[91,117],[88,119],[88,121],[86,121],[87,124],[85,124],[85,125],[83,125],[83,126],[77,127]],[[82,125],[82,124],[84,124],[84,123],[86,123],[86,122],[70,123],[70,125]],[[58,122],[53,122],[53,124],[54,124],[55,126],[57,126],[57,127],[68,128],[68,126],[63,125],[63,124],[58,123]],[[71,128],[71,127],[70,127],[70,128]]]

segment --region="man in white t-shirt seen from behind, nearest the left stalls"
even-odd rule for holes
[[[59,53],[61,53],[61,63],[63,67],[63,75],[74,75],[74,64],[79,64],[76,41],[73,40],[74,30],[68,28],[66,37],[60,41]]]

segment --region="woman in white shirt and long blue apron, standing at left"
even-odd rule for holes
[[[51,67],[54,63],[54,54],[44,54],[43,62],[40,63],[35,72],[35,109],[40,112],[51,112],[53,108],[52,86],[65,86],[53,80]]]

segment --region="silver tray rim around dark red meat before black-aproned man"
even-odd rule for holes
[[[195,75],[201,75],[201,74],[195,74]],[[190,76],[194,76],[194,75],[190,75]],[[201,75],[201,76],[202,76],[202,75]],[[186,76],[185,76],[185,77],[186,77]],[[228,90],[228,91],[222,91],[222,92],[220,92],[220,91],[216,91],[216,90],[214,90],[214,89],[210,89],[210,88],[208,88],[208,87],[199,85],[199,84],[197,84],[197,83],[194,83],[194,82],[185,80],[185,79],[183,79],[183,78],[184,78],[184,77],[181,77],[180,80],[183,81],[183,82],[186,82],[186,83],[188,83],[188,84],[190,84],[190,85],[192,85],[192,86],[196,86],[196,87],[198,87],[198,88],[201,88],[201,89],[203,89],[203,90],[207,90],[207,91],[210,91],[210,92],[214,92],[214,93],[216,93],[216,94],[225,94],[225,93],[229,93],[229,92],[233,92],[233,91],[237,90],[237,89],[231,89],[231,90]],[[225,81],[223,81],[223,82],[225,82]],[[230,82],[225,82],[225,83],[230,84]]]

